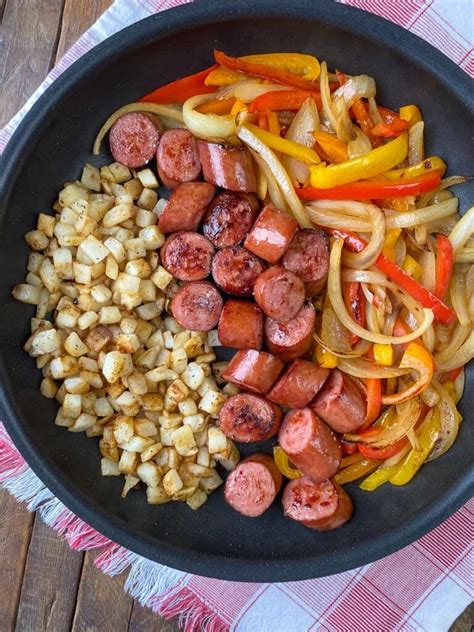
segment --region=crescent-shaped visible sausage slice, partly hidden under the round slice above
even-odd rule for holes
[[[282,360],[294,360],[304,355],[311,347],[316,312],[311,303],[306,303],[294,318],[279,323],[273,318],[265,319],[265,339],[272,353]]]

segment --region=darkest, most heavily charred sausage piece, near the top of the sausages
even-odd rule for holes
[[[254,195],[224,191],[207,209],[202,232],[216,248],[237,246],[252,228],[257,212]]]

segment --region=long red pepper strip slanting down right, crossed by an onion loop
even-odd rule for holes
[[[351,252],[361,252],[367,245],[367,242],[355,233],[339,230],[338,228],[325,228],[325,230],[333,237],[344,239],[344,245]],[[418,281],[408,276],[400,266],[390,261],[390,259],[387,259],[385,255],[380,254],[375,260],[375,265],[386,274],[389,279],[399,285],[405,292],[408,292],[412,298],[421,303],[423,307],[432,309],[436,320],[440,323],[449,325],[456,319],[456,314],[450,307],[418,283]]]

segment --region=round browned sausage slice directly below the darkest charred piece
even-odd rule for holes
[[[212,276],[216,285],[227,294],[251,296],[263,263],[242,246],[218,250],[212,259]]]

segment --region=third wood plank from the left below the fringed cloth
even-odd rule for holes
[[[126,632],[133,603],[123,590],[126,573],[109,577],[94,566],[93,559],[86,553],[71,630]]]

